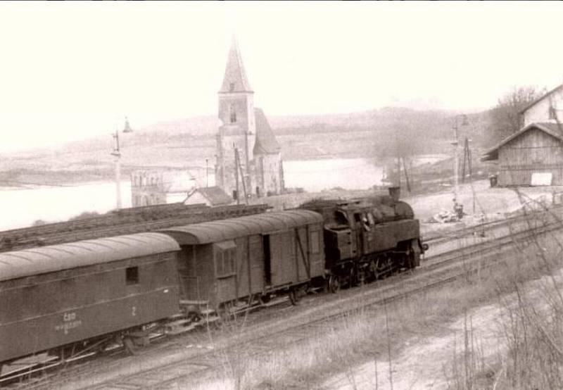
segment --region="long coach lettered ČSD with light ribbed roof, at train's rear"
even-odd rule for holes
[[[0,253],[0,366],[66,358],[178,313],[178,251],[142,233]]]

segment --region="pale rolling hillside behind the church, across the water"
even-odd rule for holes
[[[285,160],[310,158],[393,158],[448,153],[455,113],[381,108],[333,115],[270,115]],[[460,127],[460,141],[486,147],[486,112],[468,115]],[[213,169],[217,118],[201,116],[170,120],[135,129],[120,138],[123,177],[135,168],[174,167],[205,175],[205,159]],[[110,137],[75,141],[53,150],[34,150],[0,159],[0,183],[60,184],[113,178],[113,140]],[[474,158],[476,161],[477,159]]]

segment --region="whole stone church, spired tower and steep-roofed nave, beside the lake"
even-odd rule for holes
[[[233,38],[219,91],[215,182],[236,201],[281,194],[281,147],[266,115],[254,106],[239,46]]]

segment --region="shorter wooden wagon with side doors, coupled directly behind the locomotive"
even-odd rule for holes
[[[292,301],[324,274],[322,215],[286,210],[163,229],[181,246],[180,304],[187,311]]]

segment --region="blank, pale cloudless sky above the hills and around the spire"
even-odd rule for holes
[[[0,2],[1,151],[215,115],[239,42],[267,115],[478,111],[563,82],[561,2]]]

